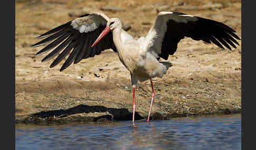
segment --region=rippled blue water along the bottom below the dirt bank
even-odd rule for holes
[[[241,149],[241,114],[135,122],[16,124],[16,149]]]

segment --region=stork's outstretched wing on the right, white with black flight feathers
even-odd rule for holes
[[[234,48],[237,48],[234,43],[239,45],[234,38],[240,40],[234,33],[235,30],[229,26],[211,19],[176,12],[160,12],[145,38],[143,51],[152,53],[157,59],[161,57],[167,60],[184,37],[213,42],[222,49],[224,45],[231,50],[229,45]]]

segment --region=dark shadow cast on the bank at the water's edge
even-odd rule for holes
[[[135,112],[135,120],[144,119]],[[106,108],[80,104],[66,110],[42,111],[28,116],[23,123],[64,123],[132,120],[127,109]]]

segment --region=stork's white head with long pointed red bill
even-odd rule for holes
[[[100,36],[95,40],[95,42],[91,47],[97,44],[97,42],[99,42],[105,35],[107,35],[110,32],[110,30],[113,31],[116,28],[122,28],[121,20],[119,18],[109,19],[109,21],[107,22],[106,28],[102,31]]]

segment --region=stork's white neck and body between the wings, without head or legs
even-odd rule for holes
[[[130,39],[122,34],[124,32],[121,32],[121,27],[113,30],[113,41],[120,61],[131,73],[132,85],[136,85],[138,80],[143,82],[155,77],[162,78],[169,68],[169,63],[165,66],[165,63],[160,63],[152,53],[143,51],[145,38]]]

